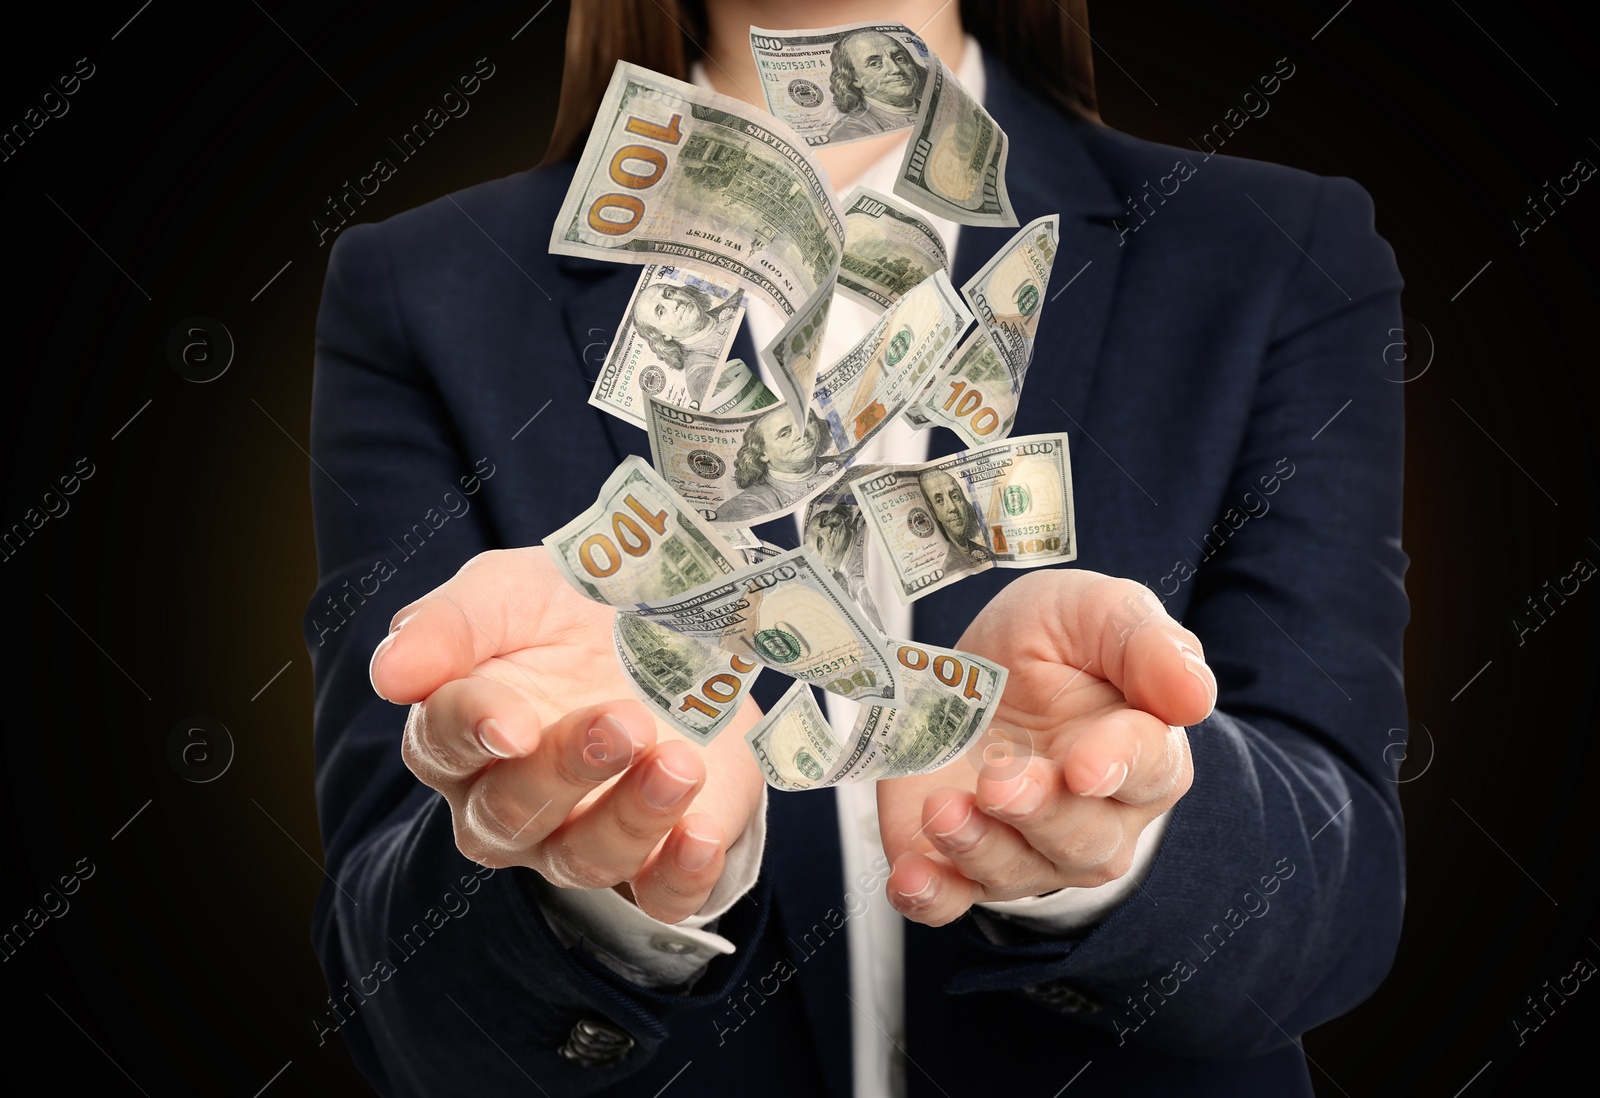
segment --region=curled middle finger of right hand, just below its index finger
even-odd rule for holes
[[[979,775],[976,800],[986,815],[1014,829],[1051,864],[1056,885],[1077,888],[1102,885],[1128,872],[1133,864],[1130,826],[1144,823],[1144,813],[1134,816],[1118,800],[1074,794],[1061,767],[1050,759],[1034,759],[1019,776]]]

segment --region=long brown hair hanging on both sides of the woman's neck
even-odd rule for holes
[[[1099,122],[1088,0],[962,0],[962,26],[1024,88]],[[544,163],[582,150],[618,61],[690,78],[706,42],[706,0],[573,0],[562,102]]]

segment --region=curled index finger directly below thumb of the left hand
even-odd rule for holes
[[[496,679],[453,679],[411,706],[400,754],[435,789],[466,781],[496,759],[539,741],[539,714],[520,690]]]

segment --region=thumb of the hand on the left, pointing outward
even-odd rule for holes
[[[611,611],[573,591],[542,546],[480,552],[402,608],[373,650],[373,690],[421,701],[491,656],[549,643]]]

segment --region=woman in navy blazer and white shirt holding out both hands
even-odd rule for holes
[[[1006,739],[882,783],[875,861],[851,863],[832,792],[766,799],[741,743],[755,704],[685,743],[630,699],[610,611],[542,549],[486,552],[536,546],[645,448],[586,408],[581,355],[634,279],[542,245],[613,62],[686,78],[704,46],[706,78],[741,96],[749,26],[792,18],[573,5],[549,165],[454,197],[549,299],[451,203],[333,250],[314,605],[437,487],[485,456],[498,472],[374,605],[307,634],[338,882],[315,917],[318,1036],[400,1095],[1310,1095],[1291,1037],[1365,999],[1400,928],[1397,786],[1371,736],[1405,727],[1402,389],[1371,347],[1402,282],[1354,182],[1099,125],[1082,3],[802,16],[902,21],[978,66],[1019,219],[1059,213],[1082,267],[1014,426],[1072,435],[1080,555],[917,602],[914,643],[1010,669]],[[824,150],[835,189],[904,138]],[[1146,186],[1179,158],[1181,190]],[[1008,237],[962,229],[952,282]],[[744,335],[734,352],[755,360]],[[1274,515],[1157,600],[1147,584],[1269,477]],[[987,751],[1005,743],[1029,751]],[[904,946],[859,949],[886,904]],[[882,1074],[856,1071],[869,1056]]]

